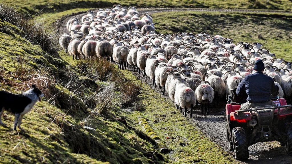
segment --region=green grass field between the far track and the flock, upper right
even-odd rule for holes
[[[277,58],[292,61],[291,14],[164,12],[152,16],[159,33],[208,32],[232,38],[235,44],[259,42]]]

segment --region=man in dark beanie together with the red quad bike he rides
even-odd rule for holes
[[[292,154],[292,108],[278,95],[271,77],[263,74],[257,60],[254,74],[248,75],[232,91],[226,105],[229,150],[236,159],[248,159],[248,146],[257,142],[279,141]],[[246,100],[247,102],[243,103]]]

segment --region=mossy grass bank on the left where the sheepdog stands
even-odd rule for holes
[[[1,163],[163,161],[157,158],[156,145],[147,140],[147,135],[130,130],[116,119],[119,116],[114,110],[119,99],[114,101],[114,82],[101,82],[101,74],[96,74],[95,80],[83,76],[81,70],[58,55],[52,57],[23,39],[24,31],[0,22],[0,89],[20,93],[36,84],[45,93],[45,99],[25,115],[24,131],[12,131],[12,115],[5,113],[2,117],[8,126],[0,126]],[[115,76],[127,81],[118,73]],[[101,90],[112,93],[113,103],[107,108],[98,103],[105,96]]]

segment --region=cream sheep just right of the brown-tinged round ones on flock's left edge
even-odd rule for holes
[[[127,56],[129,54],[129,48],[126,46],[117,46],[114,47],[113,50],[113,59],[115,62],[118,62],[120,69],[126,69],[126,62],[127,62]]]

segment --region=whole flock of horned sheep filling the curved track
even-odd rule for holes
[[[73,59],[107,58],[119,64],[137,67],[147,75],[162,95],[167,91],[177,109],[186,117],[196,102],[208,115],[209,104],[228,97],[240,81],[254,72],[254,63],[262,59],[265,72],[279,87],[279,97],[291,101],[291,62],[277,59],[260,43],[238,42],[208,33],[156,34],[152,17],[140,18],[135,7],[89,11],[67,22],[70,35],[60,37],[60,45]],[[204,109],[203,109],[204,107]],[[183,110],[184,109],[184,110]]]

